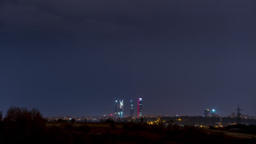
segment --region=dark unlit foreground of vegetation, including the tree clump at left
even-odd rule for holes
[[[90,126],[89,126],[90,125]],[[251,126],[255,130],[255,126]],[[255,133],[255,131],[252,131]],[[47,123],[37,109],[11,106],[0,122],[1,143],[255,143],[217,131],[161,123],[76,123],[74,119]]]

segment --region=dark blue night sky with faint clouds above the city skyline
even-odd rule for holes
[[[0,111],[256,115],[254,0],[1,0]],[[136,104],[137,106],[137,104]],[[135,111],[136,115],[136,111]]]

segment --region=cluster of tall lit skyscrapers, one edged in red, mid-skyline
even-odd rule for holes
[[[142,117],[142,98],[138,98],[138,113],[137,117]],[[134,103],[133,100],[130,100],[130,117],[134,117]],[[115,100],[115,118],[124,117],[124,100]]]

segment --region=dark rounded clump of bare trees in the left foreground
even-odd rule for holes
[[[11,106],[0,123],[0,140],[3,143],[40,143],[45,135],[45,121],[37,109]]]

